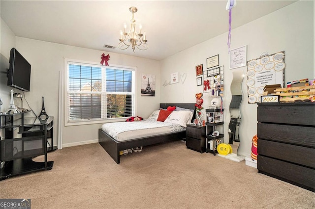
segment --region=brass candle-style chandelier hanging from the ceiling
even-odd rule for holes
[[[128,32],[126,32],[126,24],[124,31],[120,31],[120,43],[118,44],[118,48],[121,50],[126,50],[130,47],[134,52],[135,47],[137,47],[139,50],[147,50],[148,44],[146,39],[146,33],[144,32],[142,34],[142,26],[139,25],[139,33],[136,31],[136,21],[133,19],[133,13],[137,12],[137,7],[131,6],[129,8],[129,11],[132,13],[132,19],[130,20],[130,29]]]

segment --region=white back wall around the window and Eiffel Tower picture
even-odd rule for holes
[[[31,90],[26,92],[30,106],[39,114],[42,107],[42,96],[48,115],[54,116],[54,140],[58,136],[59,72],[64,70],[64,58],[99,63],[103,51],[90,50],[16,37],[16,48],[31,63]],[[118,51],[119,52],[119,51]],[[107,54],[105,52],[105,54]],[[155,60],[109,53],[109,64],[137,67],[136,111],[140,117],[148,117],[159,104],[159,63]],[[156,75],[156,96],[140,96],[140,77],[142,73]],[[150,105],[148,105],[150,104]],[[63,127],[63,147],[84,143],[98,142],[98,129],[101,124]],[[56,144],[54,142],[54,144]]]

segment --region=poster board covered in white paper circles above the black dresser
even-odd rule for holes
[[[284,68],[284,51],[247,61],[248,103],[259,103],[266,85],[281,84],[284,87]]]

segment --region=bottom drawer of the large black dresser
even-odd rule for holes
[[[280,177],[281,180],[315,191],[315,169],[264,156],[258,156],[257,169],[258,173]]]

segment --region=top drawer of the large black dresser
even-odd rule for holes
[[[258,122],[315,126],[315,105],[311,103],[260,104],[257,113]]]

